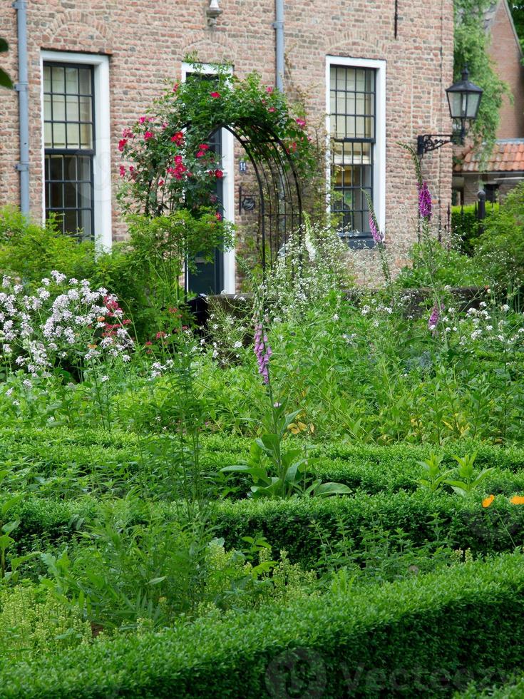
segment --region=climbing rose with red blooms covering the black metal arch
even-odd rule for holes
[[[315,166],[307,123],[283,93],[263,86],[257,73],[240,80],[221,69],[209,80],[197,64],[194,69],[123,130],[120,200],[128,210],[165,215],[217,205],[216,183],[224,173],[210,140],[225,126],[261,155],[279,143],[284,160],[292,160],[297,170]]]

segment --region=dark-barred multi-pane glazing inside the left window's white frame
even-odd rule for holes
[[[43,63],[46,218],[91,238],[95,155],[93,66]]]

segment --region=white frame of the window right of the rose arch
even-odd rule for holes
[[[376,220],[384,236],[386,235],[386,61],[367,58],[351,58],[349,56],[326,56],[326,131],[327,131],[327,182],[331,182],[331,149],[329,138],[331,134],[330,85],[332,66],[344,68],[374,68],[376,71],[376,117],[374,144],[374,178],[373,205]],[[331,203],[328,203],[328,213],[331,213]]]

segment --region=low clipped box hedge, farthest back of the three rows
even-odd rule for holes
[[[4,441],[5,440],[5,441]],[[9,433],[9,440],[0,436],[4,459],[25,459],[39,474],[56,475],[65,471],[78,476],[129,476],[144,465],[147,469],[161,468],[169,445],[168,437],[153,435],[140,442],[135,434],[102,431],[63,431],[62,429],[28,429]],[[245,459],[252,440],[210,435],[202,437],[201,464],[207,471],[220,471],[224,466]],[[426,459],[431,451],[444,455],[443,467],[453,468],[453,454],[463,456],[478,451],[478,469],[495,466],[498,470],[488,476],[483,487],[495,494],[524,491],[524,449],[493,447],[488,444],[460,442],[442,449],[416,445],[376,447],[353,444],[312,445],[311,456],[320,459],[312,470],[324,481],[339,481],[351,489],[370,494],[401,489],[413,491],[421,477],[417,461]],[[0,460],[1,466],[1,460]],[[239,485],[241,478],[230,474],[229,482]],[[243,494],[243,490],[241,491]]]

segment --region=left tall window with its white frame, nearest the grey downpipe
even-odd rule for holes
[[[41,51],[43,217],[111,248],[108,56]]]

